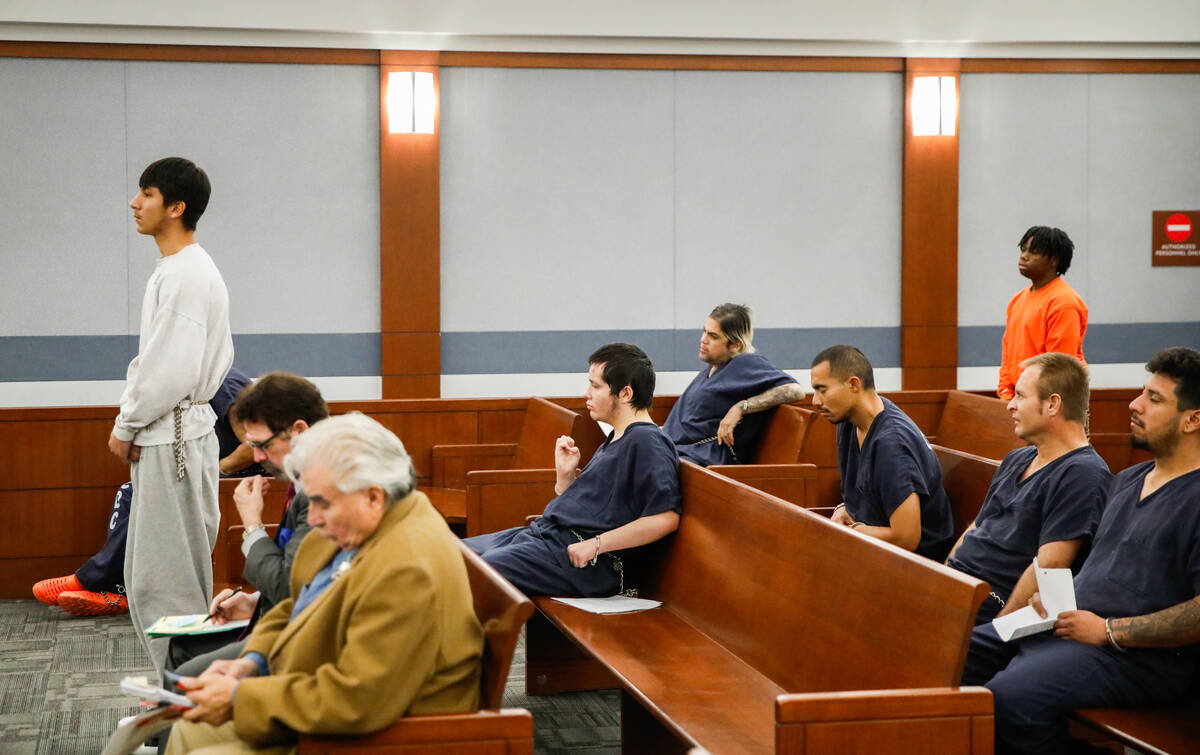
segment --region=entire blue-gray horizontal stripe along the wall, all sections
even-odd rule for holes
[[[1000,364],[1003,328],[959,328],[959,365]],[[696,330],[546,330],[442,334],[444,374],[577,372],[604,343],[637,343],[661,371],[698,368]],[[764,328],[758,352],[784,368],[806,368],[822,348],[852,343],[877,367],[900,366],[899,328]],[[1200,348],[1200,322],[1097,323],[1084,355],[1093,364],[1141,362],[1168,346]],[[382,371],[377,332],[234,335],[236,365],[247,374],[292,370],[313,377],[376,376]],[[0,337],[0,382],[120,381],[137,352],[137,336]]]

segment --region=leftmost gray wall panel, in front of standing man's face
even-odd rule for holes
[[[125,334],[124,64],[0,58],[0,336]]]

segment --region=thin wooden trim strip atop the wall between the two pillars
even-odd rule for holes
[[[493,68],[634,68],[646,71],[904,71],[902,58],[800,55],[650,55],[611,53],[443,52],[443,66]]]

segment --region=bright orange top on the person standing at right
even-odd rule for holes
[[[996,394],[1013,397],[1021,362],[1046,352],[1069,354],[1082,361],[1087,305],[1062,276],[1038,290],[1022,288],[1008,302],[1004,343]]]

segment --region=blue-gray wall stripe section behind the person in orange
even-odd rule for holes
[[[1000,364],[1000,325],[959,328],[959,366]],[[1084,336],[1084,358],[1097,365],[1146,361],[1169,346],[1200,348],[1200,323],[1094,323]]]

